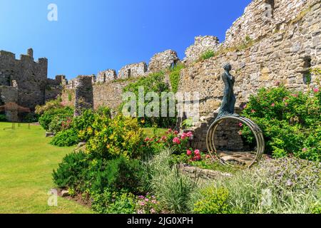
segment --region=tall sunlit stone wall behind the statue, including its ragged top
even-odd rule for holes
[[[208,116],[195,127],[195,144],[202,150],[206,148],[206,132],[223,95],[223,81],[220,79],[223,63],[229,62],[234,68],[235,95],[240,108],[259,88],[271,88],[277,82],[292,90],[306,90],[305,77],[309,69],[321,67],[320,1],[275,1],[273,15],[279,16],[280,20],[282,18],[282,23],[271,24],[272,21],[280,21],[275,18],[267,21],[268,25],[260,30],[253,27],[255,22],[252,19],[257,17],[255,15],[262,16],[263,9],[257,6],[264,2],[253,1],[245,10],[245,16],[228,31],[227,43],[223,43],[228,48],[238,46],[236,43],[248,31],[253,38],[257,38],[250,46],[240,51],[225,49],[218,56],[190,64],[181,72],[179,91],[199,91],[200,113]],[[230,32],[235,31],[238,25],[244,30],[231,36]],[[310,86],[316,86],[316,81],[317,78],[312,76]]]

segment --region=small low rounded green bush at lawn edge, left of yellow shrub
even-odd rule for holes
[[[58,147],[70,147],[79,142],[78,133],[73,129],[63,130],[51,140],[51,145]]]

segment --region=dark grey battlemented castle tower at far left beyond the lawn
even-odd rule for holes
[[[18,95],[15,98],[11,97],[10,102],[31,109],[61,93],[60,84],[47,79],[47,59],[39,58],[35,62],[33,54],[34,51],[30,48],[27,55],[21,55],[20,59],[16,59],[14,53],[0,51],[1,90],[16,91],[14,93]],[[0,92],[0,95],[0,103],[9,103],[8,97],[10,96],[4,92]]]

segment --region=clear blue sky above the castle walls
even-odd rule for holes
[[[48,21],[48,5],[58,21]],[[89,75],[146,61],[173,49],[180,58],[195,36],[218,36],[250,0],[0,0],[0,50],[49,59],[49,77]]]

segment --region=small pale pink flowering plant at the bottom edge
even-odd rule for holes
[[[137,214],[159,214],[161,212],[161,207],[154,195],[143,195],[137,197]]]

